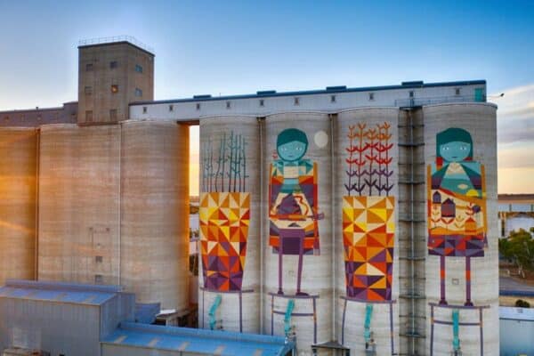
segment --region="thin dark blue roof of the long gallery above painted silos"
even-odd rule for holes
[[[184,99],[169,99],[162,101],[134,101],[130,106],[147,105],[147,104],[166,104],[166,103],[180,103],[190,101],[221,101],[221,100],[236,100],[236,99],[254,99],[254,98],[271,98],[279,96],[295,96],[295,95],[312,95],[312,94],[326,94],[326,93],[358,93],[358,92],[376,92],[381,90],[398,90],[409,88],[430,88],[436,86],[463,86],[463,85],[486,85],[486,80],[464,80],[457,82],[440,82],[440,83],[424,83],[423,81],[402,82],[401,85],[384,85],[384,86],[363,86],[356,88],[347,88],[344,85],[327,86],[325,89],[296,91],[296,92],[280,92],[274,90],[258,91],[255,94],[239,94],[239,95],[224,95],[212,96],[209,94],[194,95],[192,98]]]

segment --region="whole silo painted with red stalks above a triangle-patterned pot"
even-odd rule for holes
[[[336,331],[353,354],[398,342],[398,117],[362,108],[335,120]]]

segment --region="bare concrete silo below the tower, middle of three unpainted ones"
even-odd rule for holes
[[[44,125],[38,279],[119,282],[118,125]]]

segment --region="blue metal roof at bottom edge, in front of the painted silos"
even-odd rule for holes
[[[102,344],[123,344],[130,347],[168,351],[196,352],[206,355],[285,355],[295,347],[280,336],[239,334],[196,328],[162,327],[125,322]]]

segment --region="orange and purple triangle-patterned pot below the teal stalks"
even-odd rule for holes
[[[198,211],[204,287],[239,291],[247,256],[250,193],[200,193]]]

